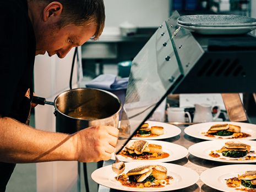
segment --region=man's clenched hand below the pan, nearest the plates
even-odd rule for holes
[[[118,129],[111,126],[85,128],[77,135],[77,160],[92,162],[109,160],[115,151]]]

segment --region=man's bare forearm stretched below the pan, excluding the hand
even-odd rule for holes
[[[0,118],[0,161],[25,163],[77,160],[77,135],[44,132]]]

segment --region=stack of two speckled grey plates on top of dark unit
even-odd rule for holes
[[[177,24],[204,35],[237,35],[256,29],[256,19],[241,15],[184,15]]]

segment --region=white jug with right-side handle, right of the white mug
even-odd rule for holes
[[[195,104],[193,122],[210,122],[216,120],[220,115],[220,108],[217,107],[217,113],[213,117],[212,111],[215,106],[209,104]]]

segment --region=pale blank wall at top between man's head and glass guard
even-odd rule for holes
[[[170,15],[170,0],[105,0],[106,27],[129,21],[138,27],[156,27]]]

